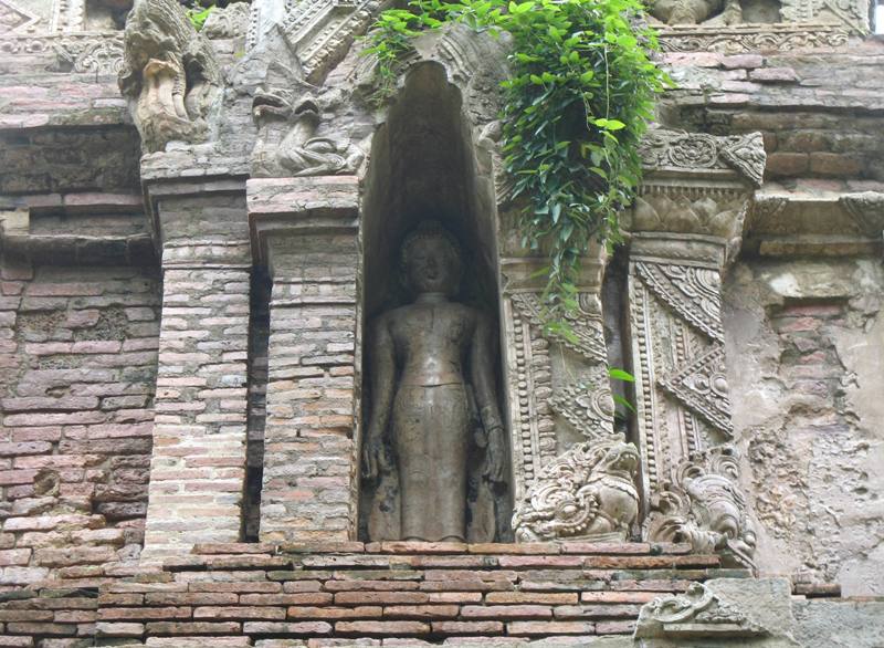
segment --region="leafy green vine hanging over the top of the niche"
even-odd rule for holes
[[[380,14],[366,54],[377,58],[377,91],[396,92],[397,62],[425,30],[463,23],[512,36],[512,76],[503,82],[503,154],[526,199],[523,245],[548,254],[548,326],[577,309],[580,260],[591,242],[620,242],[620,211],[641,179],[638,145],[669,83],[650,60],[654,32],[639,0],[412,0]]]

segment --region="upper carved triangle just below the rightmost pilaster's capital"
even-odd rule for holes
[[[644,284],[663,303],[712,339],[724,343],[720,278],[717,271],[646,261],[638,262],[635,268]]]

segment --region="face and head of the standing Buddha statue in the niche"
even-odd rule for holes
[[[421,232],[402,245],[402,270],[415,295],[442,293],[454,296],[461,282],[461,259],[454,243],[442,232]]]

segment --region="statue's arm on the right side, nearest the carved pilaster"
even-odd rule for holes
[[[497,396],[494,389],[492,328],[487,316],[480,313],[470,353],[470,370],[482,426],[487,435],[487,462],[485,474],[495,483],[505,481],[506,439]]]

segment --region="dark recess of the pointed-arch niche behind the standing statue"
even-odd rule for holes
[[[478,170],[491,165],[477,164],[476,156],[485,153],[473,146],[471,125],[462,103],[460,90],[448,81],[441,64],[418,63],[408,73],[386,123],[372,138],[361,201],[361,338],[370,339],[368,330],[381,313],[409,303],[410,296],[399,272],[400,247],[421,221],[439,221],[456,237],[461,248],[463,280],[457,301],[480,309],[492,321],[497,406],[505,412],[494,185]],[[371,354],[370,344],[367,344],[362,353],[364,428],[371,408],[371,385],[366,370]],[[508,461],[508,452],[505,454]],[[509,470],[507,464],[507,474]],[[372,505],[380,505],[383,498],[372,485],[362,484],[359,535],[375,540],[376,534],[369,533],[369,512]],[[467,515],[472,516],[472,527],[482,526],[484,531],[469,532],[467,540],[511,540],[508,489],[506,492],[497,489],[493,500],[491,518],[486,506],[471,504],[473,508]],[[484,520],[482,525],[480,516]],[[488,524],[493,526],[491,531]]]

